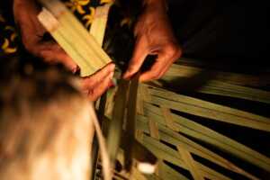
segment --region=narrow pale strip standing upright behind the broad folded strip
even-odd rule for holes
[[[94,20],[90,27],[90,34],[92,34],[96,42],[102,46],[103,38],[106,30],[106,24],[108,20],[109,10],[113,3],[104,4],[95,8]]]

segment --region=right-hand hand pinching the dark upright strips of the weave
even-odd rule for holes
[[[139,81],[158,79],[182,54],[166,15],[163,0],[145,0],[143,14],[139,15],[135,25],[136,38],[130,64],[123,75],[130,78],[143,64],[148,55],[157,55],[156,62],[150,69],[139,76]]]

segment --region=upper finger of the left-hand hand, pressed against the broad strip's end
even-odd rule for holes
[[[101,70],[94,73],[94,75],[85,77],[83,80],[82,88],[83,89],[94,89],[94,86],[97,86],[103,81],[106,77],[114,72],[115,65],[113,63],[108,64],[106,67],[103,67]]]

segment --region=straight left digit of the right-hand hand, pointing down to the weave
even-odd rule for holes
[[[124,73],[123,78],[128,79],[139,71],[144,59],[148,56],[148,44],[144,38],[139,38],[135,44],[132,58],[130,59],[129,67]]]

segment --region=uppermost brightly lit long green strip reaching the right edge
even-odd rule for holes
[[[149,88],[151,101],[180,112],[210,118],[211,120],[224,121],[257,130],[270,131],[270,120],[254,113],[244,112],[224,105],[209,103],[182,94],[175,94],[159,88]]]

